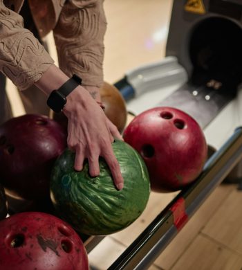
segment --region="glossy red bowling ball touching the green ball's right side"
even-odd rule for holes
[[[151,190],[180,190],[198,177],[207,159],[201,127],[185,112],[156,107],[139,114],[124,130],[124,141],[143,157]]]

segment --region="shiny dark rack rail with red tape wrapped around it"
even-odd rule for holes
[[[181,190],[178,195],[153,219],[153,222],[111,264],[113,269],[148,269],[160,253],[196,213],[212,193],[242,159],[242,127],[205,163],[200,176]]]

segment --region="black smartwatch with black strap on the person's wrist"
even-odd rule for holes
[[[74,74],[67,82],[65,82],[59,89],[53,90],[47,100],[47,105],[56,113],[62,111],[66,105],[66,97],[78,85],[82,85],[82,79]]]

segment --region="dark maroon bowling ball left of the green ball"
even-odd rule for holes
[[[66,148],[66,133],[47,116],[26,114],[0,126],[0,179],[8,195],[49,196],[53,163]]]

